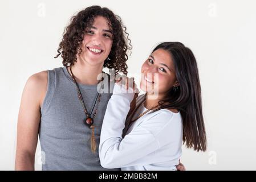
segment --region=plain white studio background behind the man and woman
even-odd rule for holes
[[[13,170],[17,118],[27,78],[62,67],[54,59],[72,15],[100,5],[121,16],[132,40],[128,72],[159,42],[179,41],[196,55],[208,151],[183,148],[188,170],[256,169],[255,1],[0,2],[0,170]],[[40,169],[40,148],[35,159]]]

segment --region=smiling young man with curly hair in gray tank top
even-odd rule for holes
[[[128,40],[107,8],[72,17],[56,56],[64,67],[32,75],[23,90],[15,169],[34,169],[39,135],[43,170],[104,170],[95,146],[111,93],[98,94],[97,76],[104,67],[127,74]]]

